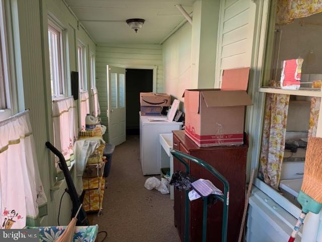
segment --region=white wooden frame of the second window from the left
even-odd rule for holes
[[[55,67],[53,71],[53,77],[51,76],[51,70],[52,66],[50,65],[50,78],[53,79],[53,95],[52,99],[60,99],[66,96],[66,68],[65,68],[65,45],[64,45],[64,30],[58,24],[54,23],[50,19],[48,19],[48,32],[52,32],[57,35],[57,42],[54,43],[56,44],[57,52],[51,52],[53,49],[50,48],[49,46],[49,41],[48,41],[48,46],[49,46],[49,56],[53,56],[53,54],[57,54],[57,58],[55,59]],[[48,36],[49,40],[49,36]],[[52,91],[52,90],[51,90]]]

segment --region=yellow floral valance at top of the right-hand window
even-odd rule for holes
[[[322,0],[278,0],[277,24],[290,24],[294,19],[322,12]]]

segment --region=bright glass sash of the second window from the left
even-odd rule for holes
[[[62,31],[52,23],[48,25],[51,96],[64,95]]]

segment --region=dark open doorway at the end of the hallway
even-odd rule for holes
[[[139,135],[140,92],[152,92],[153,70],[126,69],[126,134]]]

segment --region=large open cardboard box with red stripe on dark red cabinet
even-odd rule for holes
[[[186,135],[199,147],[242,145],[246,91],[186,90]]]

